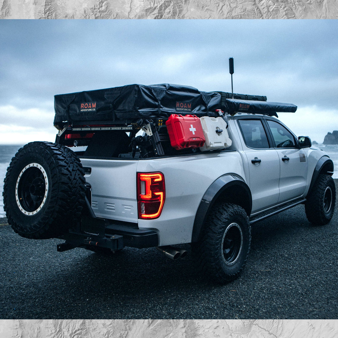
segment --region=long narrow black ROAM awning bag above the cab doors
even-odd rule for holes
[[[224,110],[232,115],[235,113],[252,113],[277,116],[276,113],[294,113],[297,106],[291,103],[226,99]]]

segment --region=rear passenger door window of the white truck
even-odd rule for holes
[[[269,142],[261,120],[238,120],[238,123],[244,142],[249,148],[269,148]]]

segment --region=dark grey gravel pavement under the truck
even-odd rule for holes
[[[304,206],[254,224],[246,266],[224,286],[199,276],[190,255],[57,252],[62,241],[21,238],[2,218],[0,319],[337,319],[337,204],[322,227]]]

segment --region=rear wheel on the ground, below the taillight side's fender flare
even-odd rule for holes
[[[250,243],[251,228],[245,210],[231,203],[216,204],[192,250],[203,274],[225,284],[240,274]]]

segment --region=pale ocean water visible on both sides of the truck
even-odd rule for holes
[[[1,189],[1,197],[0,197],[0,217],[5,217],[5,212],[3,210],[3,199],[2,199],[2,191],[3,191],[3,180],[6,176],[7,167],[12,159],[12,157],[16,154],[16,152],[21,148],[22,145],[0,145],[0,189]],[[334,174],[333,178],[338,178],[338,145],[325,145],[318,144],[316,147],[326,151],[334,164]]]

